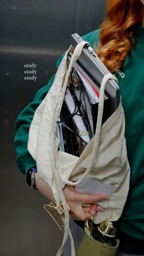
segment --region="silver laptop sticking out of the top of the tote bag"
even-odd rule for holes
[[[82,42],[82,38],[76,33],[71,35],[71,39],[71,45],[73,48],[76,47],[77,43]],[[89,43],[85,45],[77,63],[84,68],[98,87],[100,87],[104,75],[109,73],[109,70],[107,70],[103,62],[101,62]],[[112,114],[118,108],[120,103],[120,88],[114,79],[110,79],[106,83],[105,91],[109,96],[110,114]]]

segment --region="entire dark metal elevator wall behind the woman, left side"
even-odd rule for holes
[[[15,165],[16,117],[56,71],[57,58],[74,32],[87,34],[104,18],[105,0],[0,1],[0,256],[54,256],[62,234]],[[24,80],[24,65],[37,64],[37,79]],[[29,70],[29,68],[28,68]]]

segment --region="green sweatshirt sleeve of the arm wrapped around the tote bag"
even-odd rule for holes
[[[98,38],[98,31],[90,32],[87,35],[84,35],[82,38],[83,40],[90,43],[93,47],[93,44],[96,42]],[[57,60],[57,67],[59,67],[60,62],[63,58],[63,55]],[[52,83],[54,81],[54,76],[50,79],[48,84],[45,87],[42,87],[35,95],[34,100],[32,103],[29,103],[26,108],[18,115],[18,119],[15,123],[15,137],[14,137],[14,144],[16,149],[16,165],[18,169],[26,175],[27,181],[27,171],[36,165],[35,160],[27,151],[27,142],[29,137],[29,127],[31,126],[32,119],[34,117],[35,110],[40,105],[41,101],[45,98],[46,94],[48,93]]]

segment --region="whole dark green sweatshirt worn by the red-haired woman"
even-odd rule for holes
[[[124,60],[123,67],[116,71],[118,85],[126,119],[126,142],[128,159],[131,166],[131,182],[129,196],[123,214],[118,221],[121,235],[121,250],[129,254],[144,254],[144,28],[139,27],[135,32],[135,46]],[[83,37],[93,47],[99,41],[99,31],[93,31]],[[59,67],[62,57],[57,60]],[[18,116],[15,125],[16,164],[27,177],[27,170],[35,166],[32,156],[27,152],[29,126],[31,125],[35,109],[45,98],[52,86],[54,76],[48,84],[38,90],[34,101],[30,103]],[[130,240],[129,245],[123,246],[124,240]],[[124,239],[123,239],[124,238]],[[133,240],[134,239],[134,240]],[[132,242],[131,242],[132,241]],[[134,246],[138,243],[138,247]],[[140,245],[139,245],[140,243]],[[132,247],[133,246],[133,247]],[[141,248],[141,251],[140,251]],[[143,252],[142,252],[143,250]]]

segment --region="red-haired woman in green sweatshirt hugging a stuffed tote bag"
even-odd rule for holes
[[[100,31],[93,31],[83,38],[96,49],[98,56],[118,79],[126,119],[126,142],[128,159],[131,166],[131,181],[128,200],[123,214],[118,220],[120,247],[118,255],[144,255],[144,0],[109,0],[107,18]],[[57,65],[59,66],[60,60]],[[35,161],[27,152],[29,126],[37,109],[49,88],[48,85],[37,92],[34,101],[24,109],[16,121],[15,146],[17,164],[26,180],[31,183],[29,170]],[[35,173],[35,186],[48,199],[54,200],[45,181]],[[82,194],[72,186],[63,189],[70,214],[74,219],[84,221],[97,211],[104,209],[94,204],[96,200],[106,199],[105,194]],[[82,202],[91,207],[82,207]],[[123,254],[124,253],[124,254]]]

